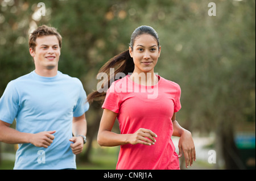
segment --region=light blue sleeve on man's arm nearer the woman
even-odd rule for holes
[[[80,81],[79,81],[80,82]],[[87,96],[82,83],[79,83],[79,98],[77,99],[77,104],[73,109],[73,117],[79,117],[89,110],[89,103],[87,101]]]

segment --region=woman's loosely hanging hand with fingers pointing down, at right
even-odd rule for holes
[[[188,165],[192,166],[193,161],[196,161],[196,149],[191,132],[187,130],[185,130],[180,136],[179,158],[182,156],[182,152],[184,153],[186,168]]]

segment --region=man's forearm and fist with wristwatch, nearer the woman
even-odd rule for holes
[[[87,132],[85,113],[82,116],[73,117],[72,132],[74,137],[69,140],[73,142],[73,144],[71,144],[71,149],[73,154],[79,154],[84,147],[84,139],[79,135],[86,136]]]

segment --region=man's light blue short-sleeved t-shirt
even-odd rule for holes
[[[14,169],[76,169],[72,119],[88,109],[81,81],[60,71],[55,77],[32,71],[9,82],[0,99],[0,120],[12,124],[15,119],[19,132],[56,131],[48,148],[19,144]]]

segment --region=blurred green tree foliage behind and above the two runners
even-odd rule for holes
[[[39,9],[34,1],[8,2],[0,11],[1,94],[34,67],[27,39],[35,25],[60,31],[59,69],[80,78],[89,93],[98,69],[147,24],[162,45],[156,72],[181,86],[181,120],[197,129],[229,119],[226,112],[233,115],[228,121],[255,121],[254,1],[215,1],[217,16],[208,16],[210,1],[44,1],[40,20],[32,18]]]

